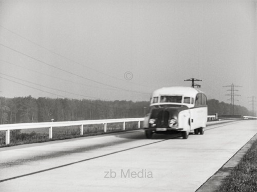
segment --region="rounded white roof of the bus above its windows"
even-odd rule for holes
[[[197,93],[203,92],[191,87],[167,87],[155,90],[152,97],[158,97],[159,95],[183,95],[187,97],[195,97]]]

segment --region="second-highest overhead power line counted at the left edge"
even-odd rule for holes
[[[1,44],[1,43],[0,43],[0,45],[3,46],[3,47],[5,47],[5,48],[8,48],[8,49],[10,49],[10,50],[12,50],[12,51],[14,51],[14,52],[16,52],[16,53],[20,53],[20,54],[25,55],[25,56],[27,56],[27,57],[33,59],[33,60],[36,60],[36,61],[38,61],[38,62],[41,62],[41,63],[43,63],[44,65],[50,66],[50,67],[52,67],[52,68],[54,68],[54,69],[58,69],[58,70],[60,70],[60,71],[66,72],[66,73],[68,73],[68,74],[75,75],[75,76],[77,76],[77,77],[80,77],[80,78],[83,78],[83,79],[86,79],[86,80],[89,80],[89,81],[92,81],[92,82],[96,82],[96,83],[102,84],[102,85],[104,85],[104,86],[116,88],[116,89],[119,89],[119,90],[130,91],[130,92],[135,92],[135,93],[143,93],[143,92],[138,92],[138,91],[132,91],[132,90],[122,89],[122,88],[119,88],[119,87],[111,86],[111,85],[109,85],[109,84],[105,84],[105,83],[102,83],[102,82],[99,82],[99,81],[96,81],[96,80],[93,80],[93,79],[89,79],[89,78],[83,77],[83,76],[81,76],[81,75],[78,75],[78,74],[75,74],[75,73],[66,71],[66,70],[61,69],[61,68],[59,68],[59,67],[52,66],[52,65],[50,65],[50,64],[47,63],[47,62],[41,61],[41,60],[36,59],[36,58],[34,58],[34,57],[32,57],[32,56],[29,56],[29,55],[27,55],[27,54],[25,54],[25,53],[22,53],[22,52],[20,52],[20,51],[17,51],[17,50],[15,50],[15,49],[12,49],[12,48],[10,48],[10,47],[4,45],[4,44]],[[149,93],[143,93],[143,94],[149,94]]]

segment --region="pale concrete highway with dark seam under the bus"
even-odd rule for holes
[[[204,135],[143,130],[0,148],[0,191],[195,191],[257,133],[256,120]]]

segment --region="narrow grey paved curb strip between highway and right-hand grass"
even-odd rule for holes
[[[203,185],[201,185],[195,192],[214,192],[222,184],[227,176],[230,175],[231,170],[240,162],[240,160],[247,153],[253,142],[257,140],[255,134],[236,154],[231,157],[218,171],[211,176]]]

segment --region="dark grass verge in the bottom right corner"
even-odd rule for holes
[[[216,192],[257,191],[257,140]]]

